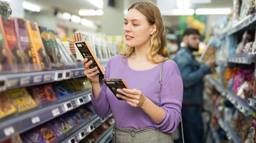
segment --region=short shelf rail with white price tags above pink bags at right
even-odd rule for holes
[[[228,62],[238,64],[251,64],[255,63],[255,57],[253,55],[249,55],[249,53],[230,54]]]

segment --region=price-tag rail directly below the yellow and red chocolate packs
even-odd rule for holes
[[[0,122],[0,142],[8,139],[11,135],[23,133],[46,121],[60,116],[71,109],[90,102],[91,88],[62,97],[47,107],[37,107],[25,111],[24,113],[22,112],[20,114],[16,114],[15,116],[9,116],[2,119]],[[83,99],[84,103],[80,102],[79,99],[81,98]]]

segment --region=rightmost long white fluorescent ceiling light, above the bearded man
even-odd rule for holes
[[[230,14],[230,8],[198,8],[196,9],[197,15],[210,15],[210,14]]]

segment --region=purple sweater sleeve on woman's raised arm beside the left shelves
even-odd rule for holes
[[[111,63],[111,59],[109,60],[109,62],[107,63],[107,66],[105,68],[104,78],[109,78],[110,63]],[[99,93],[99,96],[97,98],[93,98],[93,92],[92,92],[92,101],[91,102],[95,109],[96,114],[100,118],[107,117],[112,113],[110,105],[109,105],[109,101],[106,96],[106,89],[107,89],[107,86],[103,83],[100,93]]]

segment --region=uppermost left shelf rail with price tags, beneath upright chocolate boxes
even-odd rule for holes
[[[105,69],[106,63],[101,66]],[[0,72],[0,91],[5,91],[14,88],[29,87],[41,85],[54,81],[60,81],[70,78],[78,78],[84,75],[84,67],[73,69],[59,69],[49,71],[33,71],[33,72]]]

